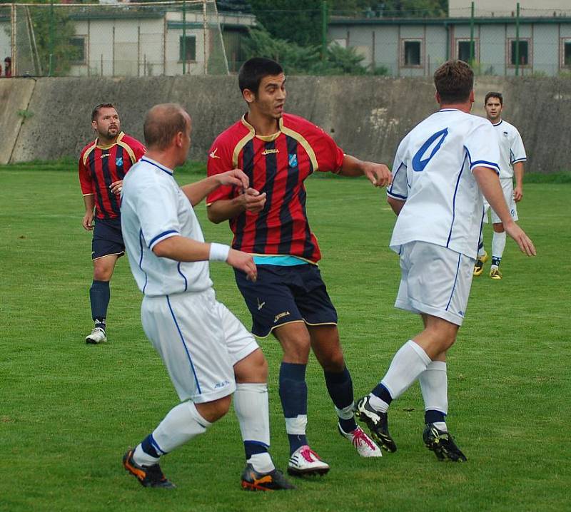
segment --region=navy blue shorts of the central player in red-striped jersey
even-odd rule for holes
[[[248,281],[241,270],[234,269],[234,274],[258,338],[290,322],[337,324],[337,311],[317,265],[258,265],[256,282]]]

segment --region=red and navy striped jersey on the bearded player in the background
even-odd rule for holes
[[[111,145],[98,145],[98,140],[86,145],[79,156],[79,183],[84,195],[95,196],[95,216],[113,219],[119,216],[121,199],[109,189],[111,183],[122,180],[131,165],[145,154],[145,146],[136,138],[121,132]]]

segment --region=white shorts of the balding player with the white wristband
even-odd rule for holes
[[[144,297],[141,321],[181,401],[203,403],[236,390],[233,366],[258,348],[214,290]]]

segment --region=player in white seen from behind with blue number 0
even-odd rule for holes
[[[512,220],[497,178],[500,153],[492,125],[470,115],[474,73],[463,61],[443,63],[434,73],[440,111],[413,128],[400,143],[388,203],[398,215],[390,248],[400,255],[401,281],[395,307],[420,314],[424,330],[393,357],[388,372],[355,406],[373,437],[389,451],[390,402],[420,381],[425,402],[423,441],[438,459],[465,461],[448,434],[446,352],[463,322],[482,223],[482,193],[522,252],[535,247]]]

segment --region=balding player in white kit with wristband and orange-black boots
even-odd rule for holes
[[[123,180],[121,225],[141,292],[143,329],[160,354],[181,404],[133,450],[123,466],[146,487],[173,487],[158,461],[203,434],[230,406],[246,450],[247,490],[293,488],[275,469],[268,447],[268,364],[256,340],[216,301],[208,260],[227,262],[256,280],[250,255],[208,244],[193,207],[221,185],[248,188],[238,169],[180,188],[173,169],[191,145],[191,118],[180,105],[151,108],[144,123],[148,151]],[[222,454],[221,454],[222,455]]]

